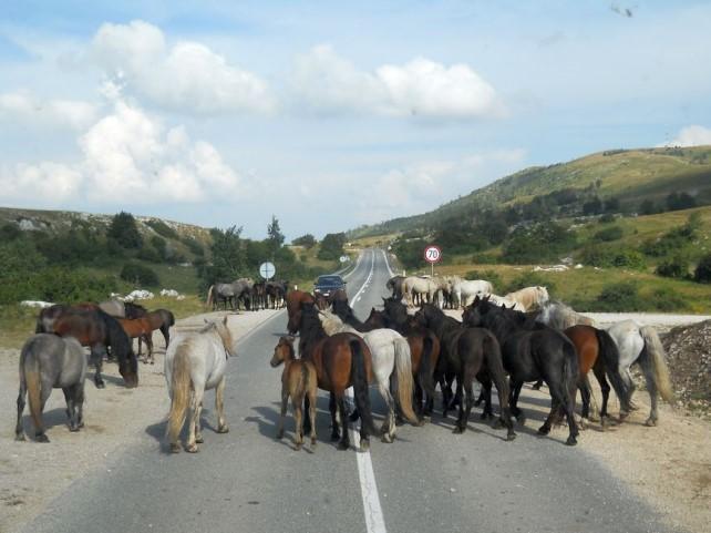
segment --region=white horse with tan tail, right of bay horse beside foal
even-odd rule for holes
[[[351,332],[368,345],[378,390],[388,406],[388,417],[381,429],[383,442],[392,442],[395,438],[395,402],[390,393],[391,377],[398,380],[398,402],[402,413],[410,422],[420,426],[420,420],[412,410],[412,356],[408,340],[393,329],[358,331],[328,310],[319,311],[319,319],[327,335]]]

